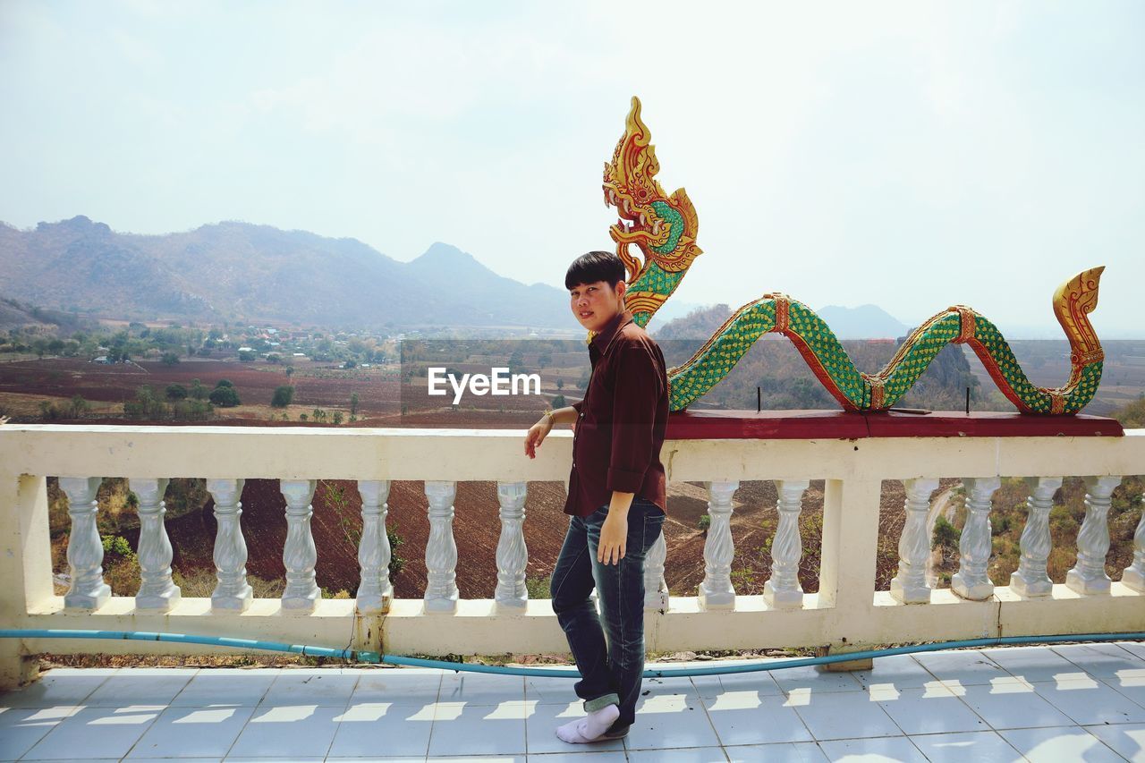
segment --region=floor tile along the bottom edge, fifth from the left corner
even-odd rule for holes
[[[337,716],[330,757],[421,756],[429,748],[433,719],[417,705],[350,702]]]

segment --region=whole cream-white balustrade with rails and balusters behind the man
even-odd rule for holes
[[[697,596],[669,600],[663,534],[646,556],[645,637],[649,650],[752,648],[760,645],[764,634],[769,646],[828,645],[831,653],[838,653],[901,640],[1088,632],[1093,622],[1110,631],[1139,629],[1145,601],[1145,527],[1136,514],[1132,563],[1122,580],[1113,583],[1104,569],[1110,551],[1106,514],[1118,478],[1087,480],[1087,518],[1079,532],[1079,559],[1068,587],[1049,583],[1045,558],[1057,475],[1145,473],[1145,431],[1130,431],[1123,438],[670,440],[664,447],[669,479],[712,480],[711,524],[706,541],[687,533],[679,538],[692,544],[686,548],[696,556],[703,543],[704,574]],[[527,459],[515,432],[6,424],[0,426],[0,581],[5,583],[0,585],[0,628],[72,628],[77,627],[76,614],[82,613],[82,627],[92,629],[220,634],[337,646],[349,640],[353,648],[380,647],[395,654],[563,652],[567,644],[555,614],[550,607],[536,606],[542,603],[528,603],[522,590],[528,563],[523,498],[529,481],[563,479],[570,455],[571,434],[560,431],[550,435],[536,459]],[[929,552],[927,504],[935,485],[933,479],[917,475],[934,473],[935,464],[946,473],[976,475],[965,480],[968,517],[953,591],[930,590],[923,576]],[[68,595],[55,595],[45,475],[196,472],[223,475],[207,480],[218,522],[218,582],[210,599],[189,597],[185,587],[179,592],[168,577],[164,486],[161,479],[152,477],[131,480],[140,496],[140,590],[110,598],[95,521],[100,480],[61,479],[72,517],[72,577]],[[282,480],[289,527],[286,543],[279,549],[289,589],[282,599],[255,599],[247,581],[239,502],[244,482],[238,474]],[[826,480],[819,591],[807,595],[799,587],[799,518],[808,482],[804,479],[779,482],[780,524],[772,541],[775,564],[765,595],[735,591],[731,526],[737,482],[803,474]],[[1010,585],[994,591],[986,575],[989,509],[1002,474],[1032,475],[1030,497],[1021,564]],[[310,475],[358,480],[363,530],[356,600],[318,601],[313,574],[317,556],[309,527]],[[460,600],[453,480],[497,477],[502,480],[497,590],[489,599]],[[393,550],[386,540],[386,524],[393,519],[387,505],[392,480],[425,483],[429,502],[425,596],[396,598],[389,580]],[[903,480],[907,488],[903,533],[897,538],[900,565],[890,592],[875,585],[879,486],[884,480]],[[421,550],[411,549],[413,553]],[[1112,596],[1079,596],[1079,589]],[[992,597],[992,591],[996,596]],[[930,604],[923,604],[927,600]],[[292,609],[295,604],[299,608]],[[784,606],[800,608],[784,612]],[[434,613],[450,613],[448,626]],[[24,675],[26,654],[93,650],[85,642],[38,637],[9,646],[0,650],[0,687]],[[212,648],[106,642],[98,651],[185,654]]]

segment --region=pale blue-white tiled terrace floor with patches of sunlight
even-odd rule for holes
[[[553,734],[582,714],[564,678],[55,669],[0,694],[0,761],[1145,762],[1138,643],[646,679],[645,691],[626,739],[574,746]]]

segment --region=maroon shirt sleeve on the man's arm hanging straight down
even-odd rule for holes
[[[643,343],[617,347],[613,393],[613,447],[607,487],[637,493],[652,464],[656,406],[663,392],[660,367]]]

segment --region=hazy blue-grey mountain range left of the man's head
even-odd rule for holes
[[[400,262],[354,238],[246,222],[135,235],[79,215],[0,223],[0,296],[114,317],[570,327],[568,296],[435,243]]]

